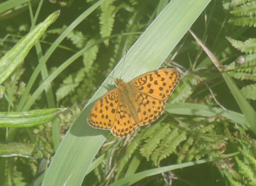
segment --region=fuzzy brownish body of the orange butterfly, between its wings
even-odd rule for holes
[[[129,85],[129,83],[126,83],[123,81],[123,79],[119,79],[117,78],[115,81],[115,85],[117,88],[119,88],[119,90],[121,91],[121,100],[123,103],[125,103],[124,105],[119,105],[119,107],[124,107],[124,108],[120,108],[120,109],[129,109],[130,113],[132,115],[132,117],[134,118],[135,122],[138,124],[139,123],[139,116],[138,116],[138,112],[136,110],[136,106],[135,106],[135,92],[134,89]]]

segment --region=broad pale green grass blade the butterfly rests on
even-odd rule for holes
[[[129,50],[125,63],[122,60],[118,63],[114,77],[130,81],[139,74],[157,69],[209,2],[171,1]],[[67,132],[46,173],[45,185],[82,183],[91,162],[110,134],[87,124],[92,102],[108,91],[105,87],[110,83],[111,78],[107,78]]]

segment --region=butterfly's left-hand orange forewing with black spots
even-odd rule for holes
[[[120,94],[120,90],[115,88],[103,95],[92,108],[87,122],[94,128],[110,130],[116,118]]]

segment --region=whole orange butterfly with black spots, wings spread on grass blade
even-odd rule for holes
[[[178,70],[165,68],[146,72],[129,83],[116,78],[117,88],[95,103],[87,121],[94,128],[111,130],[116,137],[127,137],[162,115],[180,76]]]

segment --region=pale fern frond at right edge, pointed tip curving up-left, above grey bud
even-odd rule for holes
[[[248,52],[250,54],[255,53],[256,49],[256,38],[249,38],[246,41],[238,41],[235,39],[231,39],[230,37],[226,37],[227,40],[231,43],[231,45],[242,52]]]

